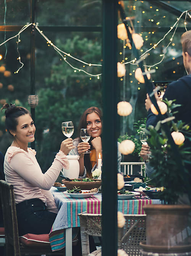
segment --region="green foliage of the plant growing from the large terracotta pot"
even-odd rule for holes
[[[167,201],[170,204],[176,203],[178,197],[186,191],[186,177],[189,177],[188,164],[191,164],[190,148],[185,147],[185,143],[181,145],[171,145],[168,142],[168,138],[164,129],[163,124],[167,123],[170,132],[178,131],[181,132],[185,139],[191,140],[191,130],[189,126],[184,124],[182,121],[174,122],[175,117],[173,116],[173,110],[180,105],[174,104],[173,101],[164,101],[167,104],[168,112],[167,118],[163,121],[159,121],[155,127],[149,126],[147,131],[149,139],[147,140],[151,151],[150,165],[154,167],[154,179],[152,183],[156,187],[165,187],[166,189],[161,193],[161,199]],[[183,170],[177,164],[173,147],[176,147],[180,160],[183,165]],[[183,173],[184,172],[184,173]]]

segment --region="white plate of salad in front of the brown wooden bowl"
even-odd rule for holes
[[[81,190],[79,188],[68,189],[64,192],[72,198],[89,198],[98,192],[97,188],[92,188],[91,190]]]

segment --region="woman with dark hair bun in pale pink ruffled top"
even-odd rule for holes
[[[14,186],[19,235],[47,234],[58,212],[50,188],[62,168],[69,168],[66,155],[74,148],[72,139],[62,141],[51,167],[42,173],[35,150],[28,147],[36,131],[31,114],[14,104],[6,103],[2,109],[6,129],[13,137],[5,154],[4,172],[5,180]]]

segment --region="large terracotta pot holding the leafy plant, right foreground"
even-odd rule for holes
[[[188,239],[188,205],[146,205],[146,244],[144,251],[153,253],[190,252]]]

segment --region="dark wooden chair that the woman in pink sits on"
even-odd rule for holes
[[[40,243],[39,246],[26,246],[19,241],[16,206],[13,185],[0,180],[0,195],[2,200],[3,221],[5,226],[6,256],[20,256],[21,254],[62,254],[65,249],[52,251],[49,243]],[[38,235],[37,235],[38,236]]]

